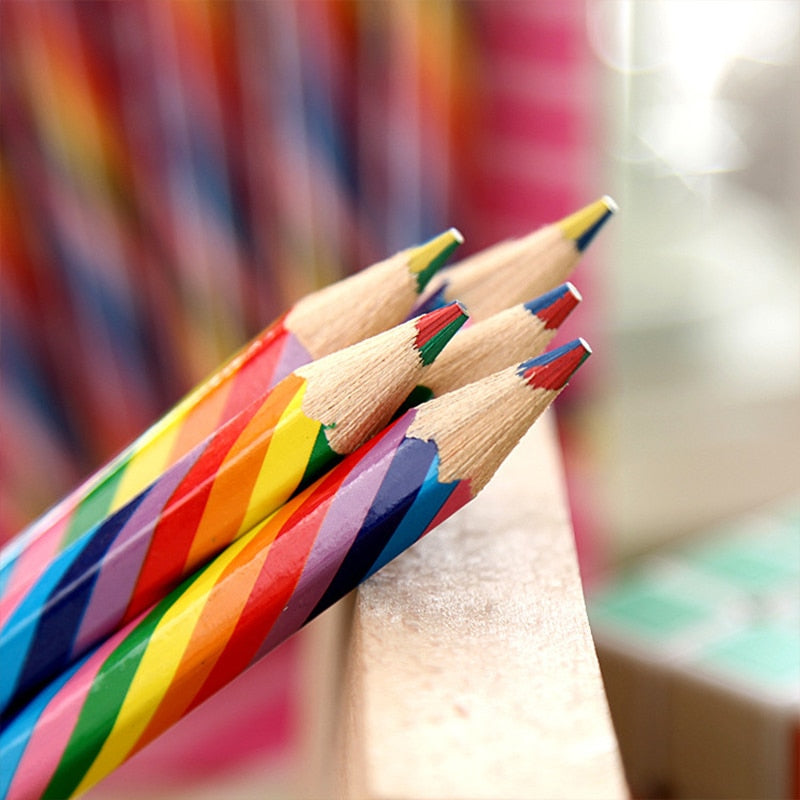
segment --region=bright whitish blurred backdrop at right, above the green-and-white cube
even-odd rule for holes
[[[612,557],[800,487],[800,4],[595,0]]]

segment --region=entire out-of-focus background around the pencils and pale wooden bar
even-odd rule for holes
[[[612,195],[558,414],[631,787],[799,796],[800,3],[7,0],[0,137],[0,541],[311,289]],[[95,796],[301,794],[303,652]]]

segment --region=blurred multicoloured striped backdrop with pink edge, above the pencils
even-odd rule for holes
[[[4,3],[0,535],[307,291],[593,199],[553,8]]]

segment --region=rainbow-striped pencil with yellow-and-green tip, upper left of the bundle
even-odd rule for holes
[[[56,554],[122,508],[266,388],[313,359],[406,319],[419,293],[462,241],[451,228],[299,300],[0,551],[0,623]]]

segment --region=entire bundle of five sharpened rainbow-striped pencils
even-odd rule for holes
[[[3,792],[88,788],[471,500],[590,352],[544,351],[613,210],[304,298],[12,542]]]

